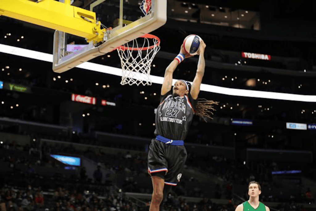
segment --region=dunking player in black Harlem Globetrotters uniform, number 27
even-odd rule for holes
[[[204,41],[200,40],[197,72],[192,88],[189,82],[178,80],[171,89],[174,70],[183,59],[192,56],[185,52],[183,45],[178,56],[166,68],[160,105],[155,117],[156,138],[151,141],[148,152],[148,173],[153,183],[149,211],[161,210],[161,202],[171,190],[171,186],[177,185],[180,181],[187,157],[183,140],[188,133],[193,115],[210,117],[206,113],[207,109],[215,110],[212,104],[217,102],[197,102],[205,69],[205,47]]]

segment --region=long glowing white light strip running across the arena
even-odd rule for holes
[[[24,48],[13,47],[13,46],[8,46],[8,45],[3,45],[3,44],[0,44],[0,52],[8,53],[8,54],[16,55],[16,56],[23,56],[30,59],[38,59],[41,61],[47,61],[51,63],[53,61],[52,54],[32,51],[32,50],[28,50]],[[107,73],[107,74],[122,77],[121,68],[95,64],[92,62],[84,62],[81,65],[78,65],[77,67],[85,69],[85,70],[97,71],[97,72],[102,72],[102,73]],[[150,77],[151,77],[151,81],[155,84],[163,83],[163,77],[153,76],[153,75],[151,75]],[[177,79],[173,79],[173,83],[176,80]],[[256,98],[301,101],[301,102],[316,102],[316,95],[299,95],[299,94],[279,93],[279,92],[269,92],[269,91],[233,89],[233,88],[226,88],[226,87],[214,86],[214,85],[209,85],[209,84],[201,84],[200,90],[211,92],[211,93],[229,95],[229,96],[256,97]]]

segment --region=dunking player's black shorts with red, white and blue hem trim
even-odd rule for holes
[[[186,156],[184,146],[167,145],[153,139],[148,152],[148,173],[165,171],[165,184],[175,186],[180,182]]]

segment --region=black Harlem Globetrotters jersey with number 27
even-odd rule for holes
[[[155,135],[172,140],[185,140],[196,103],[197,100],[194,100],[190,93],[183,97],[173,97],[170,90],[161,96],[155,119]]]

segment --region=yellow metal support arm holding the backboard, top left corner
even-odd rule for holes
[[[70,0],[0,0],[1,15],[84,37],[88,42],[102,41],[105,33],[94,12],[71,6]]]

